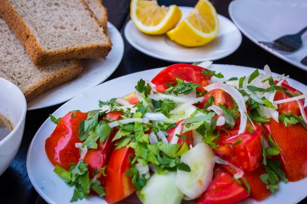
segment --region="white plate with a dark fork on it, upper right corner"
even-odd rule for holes
[[[236,0],[230,3],[228,11],[232,21],[251,41],[276,57],[307,71],[307,66],[300,63],[307,56],[306,33],[302,36],[302,47],[293,53],[278,52],[258,42],[272,42],[305,28],[306,0]]]

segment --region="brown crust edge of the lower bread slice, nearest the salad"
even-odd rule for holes
[[[82,64],[75,60],[75,64],[70,69],[62,70],[59,73],[50,75],[43,80],[41,80],[36,85],[32,86],[30,89],[24,92],[27,102],[33,100],[41,93],[64,84],[66,82],[72,81],[78,77],[80,72],[82,71]]]

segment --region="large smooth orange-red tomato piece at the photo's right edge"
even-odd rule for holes
[[[307,176],[307,130],[300,124],[284,126],[272,118],[269,123],[262,123],[265,135],[280,148],[280,154],[274,159],[281,161],[281,169],[290,182],[296,182]]]

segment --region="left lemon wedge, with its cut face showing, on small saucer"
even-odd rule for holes
[[[157,1],[132,0],[130,17],[136,27],[143,33],[151,35],[164,34],[176,26],[182,13],[178,6],[168,8],[159,6]]]

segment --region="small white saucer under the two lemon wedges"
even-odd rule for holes
[[[193,9],[179,8],[182,11],[181,21]],[[166,34],[159,36],[144,34],[135,27],[132,20],[126,24],[124,34],[127,41],[140,52],[161,60],[186,63],[218,60],[232,54],[242,41],[240,31],[231,20],[222,15],[218,15],[218,20],[220,20],[220,33],[214,40],[200,47],[181,46],[171,41]]]

